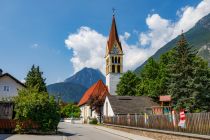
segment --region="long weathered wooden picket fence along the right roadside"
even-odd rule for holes
[[[175,114],[174,120],[171,115],[149,115],[146,118],[144,115],[119,115],[104,117],[104,123],[210,135],[210,112],[186,114],[185,128],[178,126],[179,114]]]

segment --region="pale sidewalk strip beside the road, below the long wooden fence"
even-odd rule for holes
[[[104,126],[95,126],[95,129],[99,129],[99,130],[105,131],[107,133],[121,136],[121,137],[130,139],[130,140],[154,140],[152,138],[143,137],[143,136],[139,136],[139,135],[135,135],[135,134],[131,134],[128,132],[119,131],[119,130],[115,130],[115,129],[111,129],[111,128],[106,128]]]

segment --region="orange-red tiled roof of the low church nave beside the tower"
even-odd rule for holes
[[[106,95],[109,95],[108,89],[106,85],[102,82],[102,80],[99,80],[95,84],[93,84],[82,96],[82,98],[79,101],[78,106],[84,105],[88,102],[90,97],[93,95],[99,95],[100,97],[104,97]]]

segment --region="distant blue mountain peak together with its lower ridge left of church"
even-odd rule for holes
[[[100,79],[105,83],[105,76],[99,70],[84,68],[64,82],[48,85],[47,91],[64,102],[79,102],[85,91]]]

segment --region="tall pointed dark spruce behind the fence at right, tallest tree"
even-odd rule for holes
[[[193,60],[196,52],[192,50],[184,34],[181,35],[177,46],[174,49],[174,62],[169,65],[168,93],[172,95],[172,102],[175,109],[186,109],[191,111],[195,104],[192,95],[192,79],[194,78]]]

